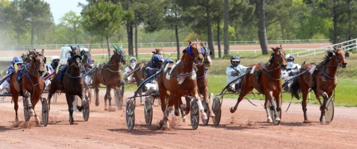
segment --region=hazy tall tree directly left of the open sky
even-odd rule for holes
[[[30,25],[31,45],[34,45],[36,30],[49,29],[54,24],[50,4],[42,0],[25,0],[24,10],[26,11],[25,20]]]

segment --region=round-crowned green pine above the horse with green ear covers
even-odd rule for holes
[[[83,26],[86,30],[106,37],[108,55],[110,56],[109,37],[123,23],[124,12],[120,3],[99,0],[82,11]]]

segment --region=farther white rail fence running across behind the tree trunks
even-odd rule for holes
[[[289,44],[289,43],[329,43],[329,39],[306,39],[306,40],[271,40],[268,44]],[[217,45],[217,41],[214,42]],[[221,42],[223,45],[223,42]],[[259,41],[230,41],[230,45],[246,45],[246,44],[259,44]],[[77,44],[73,44],[77,45]],[[107,49],[106,43],[100,44],[78,44],[84,45],[86,48],[91,49]],[[176,42],[170,43],[138,43],[139,48],[152,48],[152,47],[175,47]],[[180,46],[186,46],[187,42],[180,42]],[[46,44],[46,45],[0,45],[0,50],[27,50],[27,49],[47,49],[55,50],[61,49],[64,44]],[[124,48],[128,46],[123,43]]]

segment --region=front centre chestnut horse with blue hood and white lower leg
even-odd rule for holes
[[[164,117],[161,120],[162,128],[169,128],[168,111],[170,106],[175,105],[175,115],[178,116],[178,106],[182,96],[190,95],[196,99],[199,97],[197,88],[197,79],[195,70],[193,70],[194,64],[203,65],[203,50],[202,46],[197,41],[188,40],[188,47],[183,51],[181,60],[175,65],[170,65],[170,71],[164,70],[157,77],[157,83],[159,85],[159,93],[161,100],[161,110],[164,113]],[[168,92],[169,91],[169,92]],[[166,103],[166,98],[169,102]],[[197,101],[203,120],[207,119],[206,113],[203,111],[201,100]],[[168,108],[167,108],[168,106]]]

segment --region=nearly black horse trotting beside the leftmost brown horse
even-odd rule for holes
[[[76,107],[79,111],[89,109],[89,101],[87,101],[88,97],[85,96],[84,78],[81,73],[83,52],[81,52],[79,48],[70,47],[72,50],[70,52],[71,58],[67,61],[67,65],[59,66],[59,72],[54,74],[48,93],[48,99],[49,103],[51,103],[52,94],[55,94],[57,90],[61,90],[65,93],[69,111],[69,121],[70,124],[75,124],[73,119],[73,101],[75,100],[75,96],[79,96],[82,101],[82,105],[77,105]],[[88,116],[84,116],[84,121],[88,120]]]

